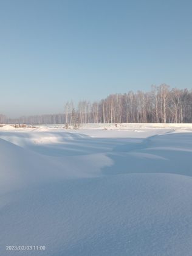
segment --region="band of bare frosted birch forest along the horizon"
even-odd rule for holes
[[[152,86],[151,91],[110,94],[96,102],[66,102],[64,112],[54,115],[22,116],[0,123],[84,124],[84,123],[192,123],[192,90]]]

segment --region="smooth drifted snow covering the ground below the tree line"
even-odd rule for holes
[[[192,124],[0,127],[0,255],[191,255],[191,176]]]

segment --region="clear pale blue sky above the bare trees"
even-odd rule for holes
[[[0,0],[0,113],[192,88],[191,0]]]

